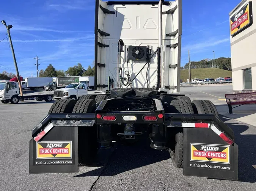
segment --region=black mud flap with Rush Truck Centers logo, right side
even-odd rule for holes
[[[183,128],[183,174],[238,180],[238,146],[210,128]],[[198,136],[200,135],[200,136]]]

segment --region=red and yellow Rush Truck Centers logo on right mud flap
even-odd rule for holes
[[[230,164],[230,146],[190,143],[190,161]]]

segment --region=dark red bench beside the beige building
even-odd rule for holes
[[[232,109],[245,104],[256,104],[256,92],[225,94],[226,102],[228,103],[228,111],[233,114]],[[232,105],[238,105],[232,107]]]

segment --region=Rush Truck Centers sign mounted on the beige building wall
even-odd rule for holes
[[[230,34],[231,36],[242,31],[243,28],[253,23],[251,2],[248,2],[242,9],[237,11],[230,18]]]

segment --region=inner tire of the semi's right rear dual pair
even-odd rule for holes
[[[177,113],[193,114],[193,107],[187,100],[172,100],[171,106],[175,107]],[[173,166],[182,168],[183,167],[183,132],[182,128],[179,128],[176,132],[174,145],[169,148],[169,153]]]

